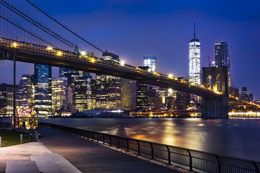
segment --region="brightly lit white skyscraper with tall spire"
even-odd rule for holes
[[[200,42],[195,36],[194,20],[194,38],[189,42],[189,81],[200,85]]]

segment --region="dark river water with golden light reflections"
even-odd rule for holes
[[[260,161],[260,119],[41,118],[85,130]]]

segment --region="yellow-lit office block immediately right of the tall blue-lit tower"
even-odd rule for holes
[[[67,78],[57,77],[52,79],[52,111],[59,112],[66,108]]]

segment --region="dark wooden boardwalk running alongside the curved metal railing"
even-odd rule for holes
[[[39,140],[48,149],[62,155],[82,173],[180,173],[59,130],[38,131],[42,134]]]

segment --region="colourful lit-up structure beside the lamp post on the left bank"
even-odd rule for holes
[[[38,116],[34,107],[16,106],[16,129],[37,129]]]

